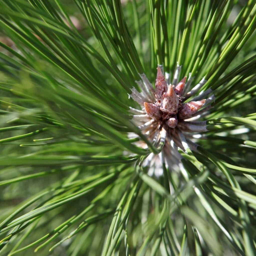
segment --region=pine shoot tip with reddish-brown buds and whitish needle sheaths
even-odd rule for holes
[[[141,92],[135,88],[131,89],[130,97],[141,105],[140,110],[130,107],[130,112],[133,113],[133,123],[157,147],[158,152],[161,152],[159,155],[151,153],[143,163],[149,165],[150,170],[153,170],[149,172],[158,173],[157,175],[162,173],[163,162],[167,166],[180,164],[181,155],[178,152],[178,147],[187,150],[189,145],[196,145],[191,141],[193,138],[191,133],[207,131],[205,121],[195,120],[207,113],[211,107],[209,103],[215,99],[214,95],[203,99],[212,92],[206,90],[185,103],[187,99],[197,94],[207,81],[202,78],[190,89],[193,80],[191,75],[188,81],[186,81],[187,77],[184,77],[178,82],[180,68],[181,66],[177,65],[172,84],[169,84],[169,74],[166,73],[165,78],[162,66],[158,66],[155,89],[145,74],[140,74],[143,82],[137,81]],[[200,108],[202,109],[198,111]],[[147,144],[143,140],[135,143],[147,148]]]

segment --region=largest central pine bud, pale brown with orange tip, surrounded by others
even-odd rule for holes
[[[179,97],[173,90],[172,85],[169,85],[168,91],[163,94],[161,101],[161,110],[164,112],[169,112],[176,114],[179,107]]]

